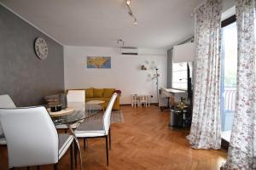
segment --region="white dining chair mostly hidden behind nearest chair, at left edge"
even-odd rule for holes
[[[15,108],[16,105],[8,94],[0,95],[0,108]],[[0,126],[0,145],[6,145],[2,127]]]

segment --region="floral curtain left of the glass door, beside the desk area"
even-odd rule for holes
[[[207,0],[195,11],[195,90],[187,137],[195,149],[218,150],[220,133],[221,0]]]

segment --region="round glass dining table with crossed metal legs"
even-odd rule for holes
[[[78,150],[79,154],[79,164],[80,169],[83,169],[82,165],[82,155],[81,150],[79,146],[79,139],[76,137],[74,130],[79,127],[79,124],[82,122],[90,122],[90,117],[96,116],[96,114],[102,113],[102,106],[101,105],[95,105],[94,108],[91,108],[90,110],[86,110],[84,107],[84,104],[79,102],[72,102],[68,103],[67,109],[60,111],[59,114],[57,112],[49,112],[49,116],[51,116],[55,127],[57,129],[64,128],[69,129],[70,133],[73,135],[73,139],[75,141],[75,150]],[[76,158],[76,154],[75,154]],[[75,159],[76,160],[76,159]]]

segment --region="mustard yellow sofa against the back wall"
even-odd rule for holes
[[[85,89],[85,101],[91,101],[91,100],[103,100],[105,103],[103,104],[103,107],[106,109],[108,106],[108,102],[111,99],[112,94],[114,93],[115,88],[86,88]],[[120,104],[119,104],[120,96],[116,98],[114,104],[113,104],[113,110],[119,110]]]

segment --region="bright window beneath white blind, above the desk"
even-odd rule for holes
[[[192,62],[172,63],[172,88],[188,89],[188,65],[191,77]]]

